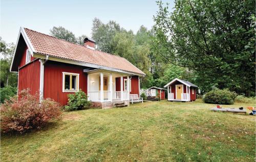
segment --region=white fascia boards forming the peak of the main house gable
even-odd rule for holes
[[[16,45],[15,45],[15,50],[14,50],[13,57],[12,57],[12,63],[11,63],[11,66],[10,66],[10,72],[16,72],[16,71],[11,71],[11,69],[12,69],[14,57],[15,57],[15,54],[16,54],[17,45],[18,45],[18,41],[19,41],[20,35],[23,36],[23,38],[24,38],[24,40],[25,40],[25,42],[26,42],[26,44],[27,44],[27,46],[28,46],[28,48],[30,50],[30,53],[31,53],[32,57],[34,57],[35,48],[33,47],[32,43],[30,42],[30,40],[28,38],[28,35],[25,32],[24,28],[20,27],[19,33],[18,33],[18,38],[17,38]]]

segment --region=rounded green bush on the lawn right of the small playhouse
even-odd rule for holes
[[[236,98],[237,93],[230,92],[227,89],[220,90],[214,89],[207,92],[203,98],[205,103],[216,103],[216,104],[233,104],[234,98]]]

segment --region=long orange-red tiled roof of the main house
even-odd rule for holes
[[[86,46],[74,44],[30,29],[25,28],[24,30],[36,53],[145,75],[122,57],[93,50]]]

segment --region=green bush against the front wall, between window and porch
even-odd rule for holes
[[[89,109],[91,103],[88,101],[87,95],[79,90],[74,94],[69,94],[68,105],[65,106],[66,111]]]

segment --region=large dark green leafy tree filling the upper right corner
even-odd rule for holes
[[[196,71],[206,89],[254,92],[255,1],[177,0],[173,12],[158,6],[156,42],[166,50],[159,55]]]

